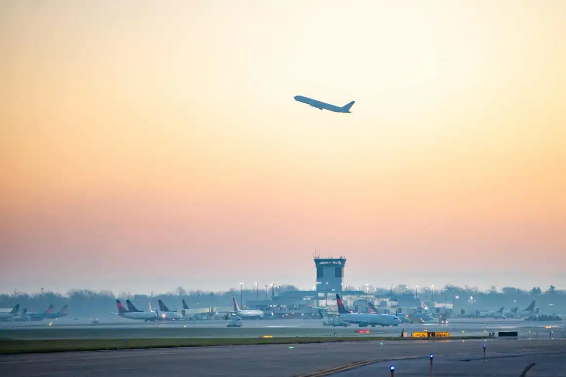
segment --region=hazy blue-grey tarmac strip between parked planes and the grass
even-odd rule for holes
[[[227,328],[225,320],[181,321],[172,323],[144,323],[132,320],[102,322],[100,324],[77,323],[73,320],[49,322],[0,323],[0,339],[109,339],[109,338],[153,338],[153,337],[258,337],[273,336],[329,336],[355,335],[357,326],[323,326],[322,320],[281,319],[246,320],[240,328]],[[517,331],[521,338],[548,337],[546,323],[524,320],[454,319],[447,325],[438,323],[401,324],[398,327],[366,327],[369,336],[397,336],[405,329],[413,331],[449,331],[457,336],[487,336],[494,331]],[[566,336],[562,323],[553,324],[556,337]],[[357,335],[365,336],[365,335]]]

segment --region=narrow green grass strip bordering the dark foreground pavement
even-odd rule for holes
[[[439,340],[442,338],[439,338]],[[447,338],[443,338],[447,339]],[[482,339],[480,336],[459,336],[449,339]],[[199,347],[221,345],[261,345],[261,344],[301,344],[329,343],[343,341],[398,340],[418,341],[425,338],[411,337],[375,337],[375,336],[341,336],[341,337],[273,337],[261,338],[134,338],[128,339],[29,339],[29,340],[0,340],[0,353],[40,353],[40,352],[69,352],[94,351],[111,349],[142,349],[142,348],[171,348]]]

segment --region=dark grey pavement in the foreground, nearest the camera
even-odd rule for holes
[[[482,345],[486,344],[487,362]],[[428,355],[435,355],[435,375],[518,376],[538,362],[528,376],[566,375],[566,340],[371,341],[297,345],[221,346],[0,356],[3,375],[19,376],[298,376],[363,360],[383,362],[334,374],[336,377],[428,375]],[[402,360],[405,358],[405,360]],[[395,361],[389,361],[395,359]],[[468,360],[468,361],[466,361]],[[444,373],[444,374],[442,374]],[[546,374],[545,374],[546,373]]]

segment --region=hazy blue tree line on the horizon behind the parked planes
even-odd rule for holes
[[[346,290],[361,290],[376,297],[387,297],[393,291],[394,294],[410,294],[418,295],[424,300],[432,300],[431,287],[418,288],[409,287],[406,284],[397,284],[395,287],[374,288],[371,285],[364,287],[346,287]],[[265,300],[271,296],[278,296],[287,291],[297,291],[294,285],[269,285],[266,289],[259,286],[255,288],[242,289],[242,301]],[[130,299],[138,309],[148,310],[149,302],[152,307],[157,307],[157,300],[161,299],[165,305],[171,310],[181,310],[181,300],[185,300],[190,308],[201,307],[231,307],[232,297],[239,304],[240,290],[229,289],[224,292],[212,291],[187,291],[183,287],[177,287],[173,291],[162,294],[136,294],[131,292],[119,292],[115,294],[112,291],[93,291],[91,289],[71,289],[66,294],[42,291],[39,293],[13,292],[10,294],[0,295],[0,307],[11,308],[16,304],[20,304],[20,309],[28,308],[28,311],[44,311],[50,304],[54,305],[54,311],[58,311],[63,305],[68,305],[68,311],[71,316],[84,317],[102,316],[117,311],[115,300]],[[566,291],[559,290],[551,285],[548,289],[533,287],[530,290],[503,287],[496,289],[491,287],[487,291],[481,291],[477,287],[458,287],[456,285],[445,285],[441,288],[434,288],[434,300],[437,302],[447,301],[454,302],[456,309],[498,309],[499,306],[505,306],[508,309],[519,306],[523,309],[531,300],[537,300],[537,307],[541,308],[542,313],[566,313]]]

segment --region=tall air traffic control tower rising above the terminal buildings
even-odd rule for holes
[[[336,302],[336,293],[342,294],[344,282],[344,265],[346,258],[320,258],[315,257],[316,267],[316,301],[319,306],[333,305]]]

